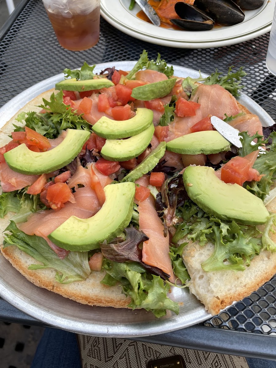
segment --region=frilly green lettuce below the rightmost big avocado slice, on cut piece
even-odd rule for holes
[[[202,263],[202,268],[206,272],[220,269],[242,271],[261,251],[261,232],[256,226],[222,221],[208,215],[191,201],[186,201],[178,210],[182,212],[184,221],[177,226],[172,238],[173,243],[187,237],[188,240],[197,241],[201,246],[207,242],[215,245],[213,254]]]

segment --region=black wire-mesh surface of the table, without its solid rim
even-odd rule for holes
[[[102,19],[99,43],[90,50],[71,52],[59,46],[42,2],[30,0],[0,43],[0,106],[29,86],[60,73],[65,67],[79,67],[84,61],[95,64],[137,60],[145,49],[150,58],[156,58],[159,52],[168,63],[205,73],[216,68],[225,73],[229,66],[233,65],[235,70],[243,66],[247,72],[243,92],[276,119],[276,77],[265,67],[268,40],[269,34],[266,34],[217,49],[174,49],[133,39]],[[276,277],[204,325],[276,335]]]

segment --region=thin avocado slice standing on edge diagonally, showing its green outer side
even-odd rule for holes
[[[165,150],[166,142],[160,142],[159,145],[121,181],[135,181],[141,178],[144,174],[147,174],[158,164],[159,160],[164,156]]]

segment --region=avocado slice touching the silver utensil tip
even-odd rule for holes
[[[204,153],[219,153],[230,150],[230,143],[219,132],[206,130],[182,135],[179,138],[167,142],[166,149],[183,155],[197,155]]]

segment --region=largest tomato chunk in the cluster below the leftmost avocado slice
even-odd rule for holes
[[[51,185],[46,194],[46,199],[52,209],[64,207],[68,201],[74,202],[74,196],[66,183],[56,183]]]

